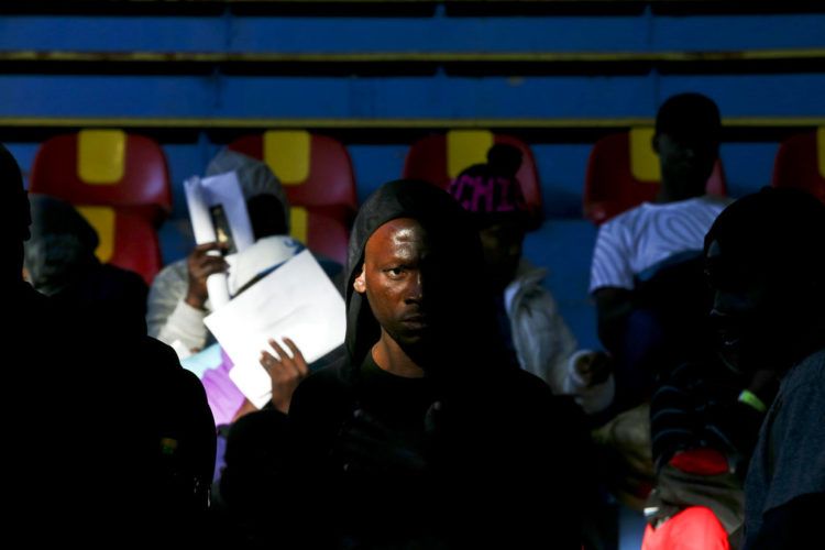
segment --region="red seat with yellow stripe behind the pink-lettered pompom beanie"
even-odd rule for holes
[[[414,143],[404,163],[404,177],[424,179],[447,189],[458,175],[473,164],[486,162],[487,150],[495,143],[505,143],[521,151],[521,167],[516,177],[536,224],[543,218],[541,210],[541,182],[536,160],[529,145],[510,135],[494,134],[486,130],[453,130],[433,134]]]

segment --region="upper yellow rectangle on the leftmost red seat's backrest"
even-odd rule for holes
[[[77,136],[77,174],[91,185],[123,179],[127,134],[120,130],[81,130]]]

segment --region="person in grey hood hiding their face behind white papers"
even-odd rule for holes
[[[246,199],[255,243],[239,253],[228,276],[229,292],[235,296],[257,278],[304,250],[304,244],[289,237],[289,205],[286,194],[266,164],[229,150],[221,152],[207,168],[207,175],[235,172]],[[204,319],[211,312],[207,278],[229,271],[229,264],[213,251],[218,243],[199,244],[187,258],[161,271],[152,283],[146,316],[150,334],[176,348],[182,358],[201,351],[213,343]],[[338,287],[341,266],[327,258],[318,258]],[[211,350],[210,350],[211,351]],[[268,352],[266,352],[268,354]],[[230,424],[239,415],[255,408],[229,378],[232,362],[226,353],[208,354],[216,359],[215,366],[202,375],[216,422]],[[201,358],[202,359],[202,358]],[[292,389],[300,373],[294,373],[288,384],[276,392],[276,407],[286,410]]]

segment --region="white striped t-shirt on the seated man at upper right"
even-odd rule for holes
[[[634,276],[674,254],[701,251],[705,234],[732,199],[705,195],[675,202],[640,206],[598,230],[590,292],[603,287],[632,289]]]

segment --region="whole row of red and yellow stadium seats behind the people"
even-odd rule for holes
[[[652,129],[639,128],[595,143],[584,185],[586,219],[600,224],[656,197],[661,176],[651,138]],[[410,146],[404,177],[447,187],[462,169],[485,162],[494,143],[521,151],[517,177],[539,223],[536,161],[530,147],[514,136],[480,130],[427,136]],[[293,208],[294,237],[321,254],[345,261],[358,198],[352,162],[340,142],[304,131],[271,131],[240,138],[229,146],[266,162],[282,180]],[[825,202],[825,128],[780,145],[772,185],[801,187]],[[162,267],[156,229],[172,211],[172,187],[165,155],[154,141],[119,130],[52,138],[37,150],[29,189],[73,202],[100,234],[101,261],[133,270],[147,282]],[[721,162],[707,190],[727,193]]]

